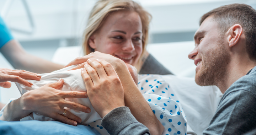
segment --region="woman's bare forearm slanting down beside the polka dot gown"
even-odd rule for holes
[[[146,127],[149,128],[153,135],[162,134],[164,127],[152,112],[148,102],[146,102],[142,93],[132,79],[127,66],[119,61],[115,66],[119,79],[124,89],[125,106],[130,108],[134,117]]]

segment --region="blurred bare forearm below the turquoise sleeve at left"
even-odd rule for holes
[[[15,69],[36,73],[49,73],[64,68],[63,65],[28,54],[15,40],[7,42],[0,51]]]

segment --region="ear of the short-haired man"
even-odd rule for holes
[[[239,24],[233,25],[228,32],[228,43],[229,47],[233,47],[236,43],[238,43],[241,35],[242,35],[242,26]]]

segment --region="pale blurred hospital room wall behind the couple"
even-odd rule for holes
[[[23,1],[0,0],[1,17],[28,53],[47,60],[52,59],[58,47],[81,45],[86,20],[96,2],[96,0],[26,0],[33,21],[31,25]],[[193,41],[194,32],[199,28],[200,17],[222,5],[245,3],[256,8],[256,0],[135,1],[153,16],[150,24],[150,43]],[[0,67],[12,69],[1,54]],[[0,101],[7,102],[8,97],[4,96],[6,91],[10,90],[1,88]],[[19,93],[14,93],[14,97],[19,96]]]

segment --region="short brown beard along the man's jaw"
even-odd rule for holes
[[[203,57],[201,68],[196,73],[195,81],[200,86],[217,85],[222,81],[230,60],[230,55],[221,41],[208,54]]]

